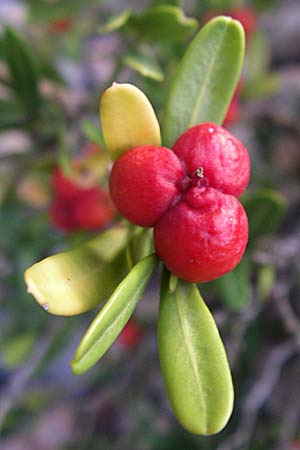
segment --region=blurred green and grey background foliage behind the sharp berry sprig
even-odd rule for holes
[[[95,311],[48,315],[23,273],[118,220],[105,194],[101,92],[136,84],[161,118],[188,43],[219,13],[246,30],[224,125],[248,148],[252,180],[243,263],[200,286],[236,391],[229,425],[205,438],[184,432],[167,401],[156,279],[112,349],[78,377],[69,361]],[[1,450],[300,449],[299,1],[1,0],[0,32]],[[96,216],[59,196],[57,172],[94,192]]]

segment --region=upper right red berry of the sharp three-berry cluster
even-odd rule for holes
[[[249,155],[243,144],[222,127],[203,123],[190,128],[176,141],[174,152],[184,161],[189,176],[203,168],[207,186],[236,197],[250,177]]]

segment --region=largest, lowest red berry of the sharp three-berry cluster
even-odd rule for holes
[[[154,227],[159,257],[175,275],[206,282],[232,270],[243,256],[248,221],[240,202],[212,188],[192,188]]]

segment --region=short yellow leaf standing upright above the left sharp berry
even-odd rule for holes
[[[145,94],[131,84],[106,89],[100,100],[106,147],[113,160],[139,145],[160,145],[160,128]]]

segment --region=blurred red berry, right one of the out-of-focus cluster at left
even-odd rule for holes
[[[82,190],[73,207],[73,217],[78,229],[100,230],[115,216],[109,195],[101,188]]]

